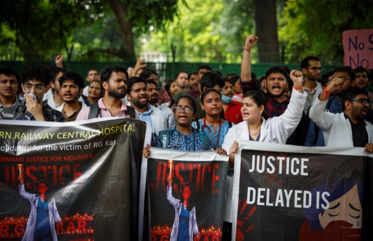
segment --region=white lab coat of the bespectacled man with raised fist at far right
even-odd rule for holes
[[[343,112],[339,114],[325,112],[326,103],[327,101],[317,99],[310,109],[311,120],[323,130],[325,145],[327,147],[353,147],[350,120],[344,117]],[[369,121],[365,121],[365,124],[368,142],[373,143],[373,125]]]

